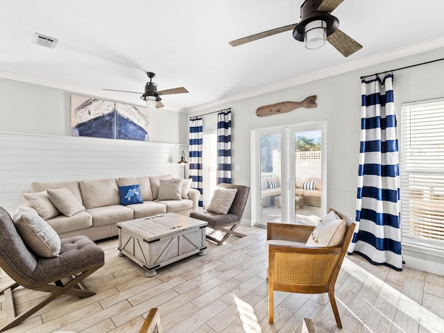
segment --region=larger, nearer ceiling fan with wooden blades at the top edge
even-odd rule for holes
[[[318,49],[325,40],[332,44],[344,57],[348,57],[362,48],[362,45],[339,30],[339,19],[330,14],[343,0],[305,0],[300,6],[300,22],[272,30],[256,33],[230,42],[239,46],[264,37],[293,30],[293,37],[305,42],[307,49]]]

